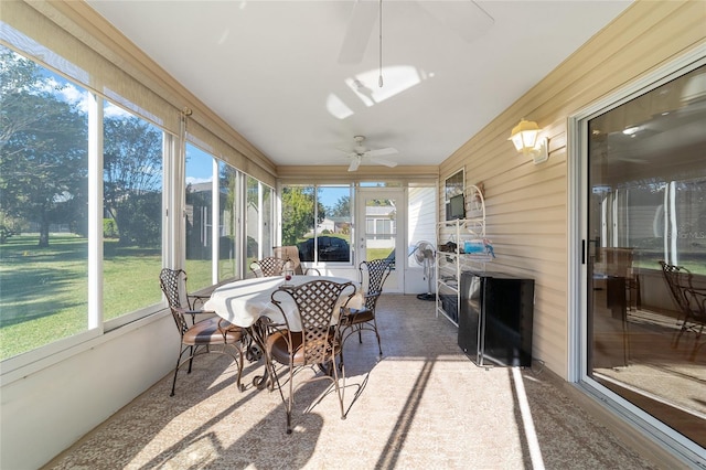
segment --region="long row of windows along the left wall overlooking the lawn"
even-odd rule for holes
[[[36,19],[18,28],[61,40],[50,49],[0,21],[2,374],[161,311],[159,271],[182,255],[192,290],[242,274],[245,174],[224,161],[247,163],[197,122],[189,136],[210,153],[188,146],[175,161],[186,121],[173,104],[36,9],[11,8]],[[255,243],[270,246],[274,191],[248,185]]]

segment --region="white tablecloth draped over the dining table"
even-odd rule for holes
[[[298,286],[315,279],[327,279],[334,282],[347,282],[350,280],[330,276],[295,276],[290,284]],[[282,284],[285,284],[282,276],[242,279],[225,284],[211,293],[211,299],[204,305],[204,310],[215,311],[218,317],[243,328],[252,327],[261,316],[269,317],[276,323],[282,322],[285,319],[280,310],[271,302],[272,292]],[[334,309],[334,322],[338,321],[340,307],[347,300],[349,289],[344,290],[340,305]],[[287,314],[291,330],[301,331],[299,316],[296,314],[297,308],[291,297],[280,295],[277,300],[282,302],[280,307]],[[349,306],[360,308],[362,300],[362,295],[356,290]]]

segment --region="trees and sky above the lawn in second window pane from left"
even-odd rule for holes
[[[162,135],[142,119],[104,120],[104,203],[120,245],[160,243]]]

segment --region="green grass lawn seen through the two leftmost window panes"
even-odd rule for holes
[[[88,328],[88,244],[75,235],[13,236],[0,245],[0,359]],[[104,320],[161,300],[161,249],[105,244]],[[195,266],[195,265],[194,265]]]

